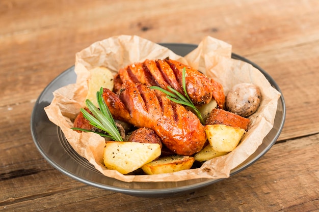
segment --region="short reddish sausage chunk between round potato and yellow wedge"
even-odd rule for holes
[[[206,119],[206,125],[227,125],[230,127],[248,129],[250,120],[235,113],[222,110],[212,109]]]

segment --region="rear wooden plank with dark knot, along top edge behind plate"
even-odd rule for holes
[[[114,1],[91,1],[90,4],[84,1],[61,4],[57,1],[34,1],[33,4],[28,1],[12,2],[6,6],[8,10],[2,13],[0,20],[7,23],[7,27],[2,29],[2,37],[10,37],[9,40],[13,41],[18,41],[17,38],[25,41],[23,38],[50,29],[62,33],[52,35],[53,38],[69,37],[69,42],[87,42],[90,39],[88,45],[98,38],[118,34],[141,35],[154,42],[195,44],[207,35],[215,35],[233,44],[237,53],[246,55],[270,50],[283,43],[291,45],[296,41],[316,40],[318,32],[315,27],[315,17],[318,16],[315,1],[280,1],[272,4],[265,0],[245,3],[206,1],[203,4],[195,0],[188,1],[188,4],[178,1],[134,1],[127,8]],[[158,9],[149,14],[151,8]],[[180,15],[176,15],[176,9]],[[125,16],[119,19],[120,12]],[[33,16],[25,19],[28,13]],[[11,21],[13,19],[15,22]],[[191,33],[188,25],[194,26]]]

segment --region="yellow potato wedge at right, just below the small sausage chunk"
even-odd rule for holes
[[[231,152],[246,131],[227,125],[206,125],[205,132],[212,149],[217,152]]]

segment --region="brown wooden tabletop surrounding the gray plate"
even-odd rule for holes
[[[0,211],[319,211],[319,2],[0,2]],[[30,132],[36,99],[75,53],[114,35],[232,44],[286,103],[276,144],[244,171],[190,194],[140,198],[79,183],[49,165]]]

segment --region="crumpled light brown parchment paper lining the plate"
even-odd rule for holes
[[[241,143],[226,156],[206,161],[200,168],[157,175],[123,175],[108,170],[103,165],[104,138],[94,133],[77,133],[70,128],[72,121],[84,106],[88,92],[89,70],[104,66],[114,74],[131,63],[145,59],[171,59],[190,65],[214,78],[224,87],[224,92],[235,84],[251,82],[261,89],[260,106],[249,118],[251,125]],[[92,163],[105,176],[122,181],[180,181],[194,178],[225,178],[230,171],[252,155],[263,138],[273,127],[280,93],[274,89],[264,75],[250,64],[231,58],[231,45],[205,37],[198,48],[185,57],[176,55],[166,47],[138,36],[115,36],[93,43],[76,53],[76,83],[64,86],[54,92],[52,103],[45,107],[49,120],[58,125],[76,152]]]

